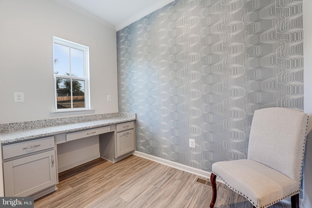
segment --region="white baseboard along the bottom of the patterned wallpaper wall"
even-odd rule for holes
[[[197,168],[186,166],[186,165],[183,165],[183,164],[180,164],[180,163],[176,163],[176,162],[173,162],[173,161],[170,161],[170,160],[166,160],[166,159],[163,159],[163,158],[160,158],[160,157],[156,157],[156,156],[153,156],[153,155],[150,155],[150,154],[146,154],[146,153],[143,153],[143,152],[140,152],[140,151],[135,151],[133,154],[138,156],[138,157],[142,157],[142,158],[154,161],[156,163],[160,163],[162,165],[169,166],[171,168],[175,168],[175,169],[178,169],[178,170],[183,170],[185,172],[189,172],[189,173],[192,173],[194,175],[198,175],[200,177],[204,177],[204,178],[210,179],[211,172],[209,172],[209,171],[200,170],[200,169],[197,169]],[[217,182],[224,183],[223,181],[218,180],[218,179],[217,179]]]

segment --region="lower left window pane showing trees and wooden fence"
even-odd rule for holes
[[[72,108],[70,96],[70,79],[57,78],[57,104],[58,109]]]

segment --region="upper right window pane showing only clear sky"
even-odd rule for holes
[[[83,51],[71,48],[70,57],[72,76],[84,77]]]

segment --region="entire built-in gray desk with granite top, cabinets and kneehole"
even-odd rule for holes
[[[5,196],[36,199],[56,189],[60,171],[98,157],[114,163],[131,155],[135,120],[136,113],[107,113],[0,124]],[[94,155],[83,158],[88,152]]]

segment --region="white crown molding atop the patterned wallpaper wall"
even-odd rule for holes
[[[145,17],[146,15],[151,14],[152,12],[155,12],[157,9],[160,9],[162,7],[164,7],[165,5],[167,5],[168,3],[171,3],[175,0],[161,0],[158,1],[157,3],[153,4],[152,6],[147,7],[146,9],[144,9],[142,12],[138,13],[137,15],[133,16],[132,18],[127,19],[124,22],[121,22],[120,24],[118,24],[116,26],[116,31],[121,30],[122,28],[132,24],[133,22]]]

